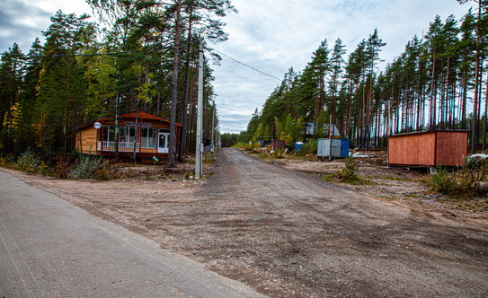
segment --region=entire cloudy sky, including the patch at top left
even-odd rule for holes
[[[335,39],[341,38],[349,54],[376,28],[386,42],[380,53],[385,60],[381,70],[414,35],[421,37],[437,14],[443,20],[450,14],[460,20],[470,7],[456,0],[232,0],[232,4],[239,13],[223,20],[229,39],[210,46],[279,79],[289,67],[302,71],[324,39],[333,48]],[[29,52],[58,9],[93,14],[84,0],[0,0],[0,52],[13,42]],[[222,132],[235,133],[246,129],[253,111],[262,109],[280,80],[222,58],[220,66],[212,66],[219,126]]]

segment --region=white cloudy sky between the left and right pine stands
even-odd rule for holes
[[[386,42],[380,57],[391,62],[416,34],[421,37],[436,14],[457,19],[467,12],[467,5],[456,0],[234,0],[238,14],[226,18],[229,40],[216,48],[265,73],[282,77],[290,66],[301,71],[324,39],[329,48],[341,38],[347,49],[354,50],[361,39],[368,39],[375,28]],[[262,104],[278,81],[240,66],[224,57],[215,67],[215,91],[218,104],[253,111]],[[238,87],[235,87],[235,85]],[[243,105],[246,106],[243,106]],[[226,115],[225,110],[221,110]],[[235,131],[243,124],[223,121],[223,131]],[[228,124],[229,126],[226,126]],[[233,125],[235,127],[231,127]]]

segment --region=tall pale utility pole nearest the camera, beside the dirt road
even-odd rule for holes
[[[201,144],[201,128],[203,127],[203,118],[201,117],[203,110],[203,36],[200,37],[199,50],[199,92],[198,92],[198,108],[197,108],[197,146],[195,154],[195,178],[201,178],[201,153],[203,152],[203,144]]]

